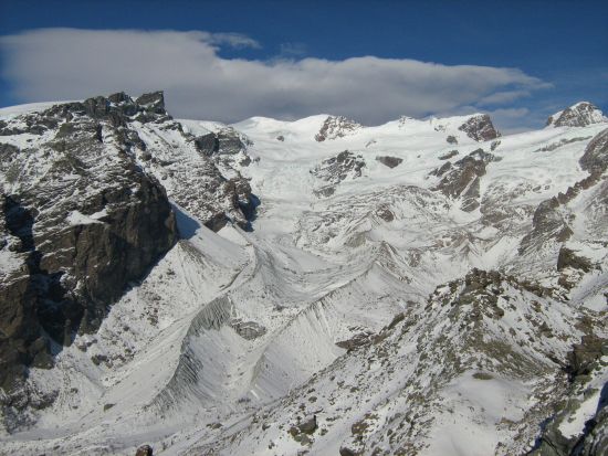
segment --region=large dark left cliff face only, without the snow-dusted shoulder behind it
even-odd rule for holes
[[[166,118],[161,100],[157,93],[148,106]],[[125,112],[146,109],[125,94],[53,106],[19,120],[33,130],[55,126],[54,137],[32,149],[1,146],[9,182],[1,247],[13,258],[0,280],[2,405],[15,403],[28,367],[52,367],[51,341],[67,346],[76,332],[95,331],[127,284],[177,241],[165,189],[130,153],[139,138]],[[11,171],[15,165],[28,171]]]

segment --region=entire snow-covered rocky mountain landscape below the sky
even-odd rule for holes
[[[1,109],[0,454],[605,455],[608,120],[548,125]]]

